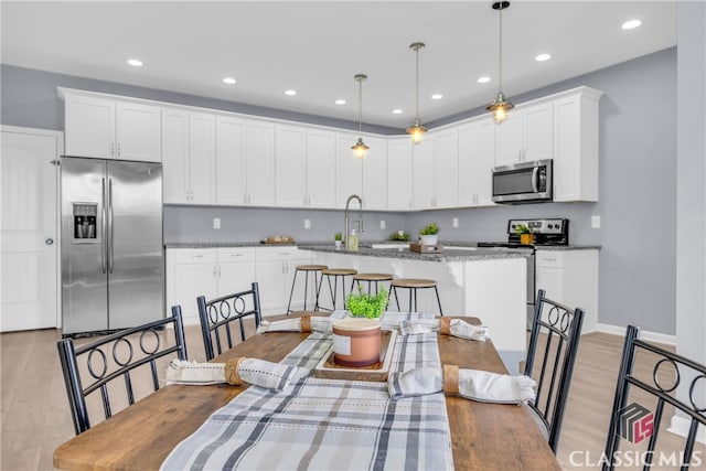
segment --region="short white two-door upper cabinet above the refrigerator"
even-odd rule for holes
[[[72,90],[63,95],[67,156],[161,162],[159,107]]]

